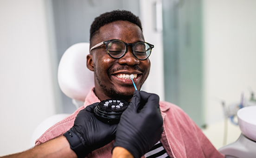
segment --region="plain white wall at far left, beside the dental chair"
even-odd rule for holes
[[[0,156],[55,114],[44,0],[0,0]]]

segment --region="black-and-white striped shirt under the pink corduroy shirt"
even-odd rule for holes
[[[158,141],[152,149],[145,154],[146,158],[170,158],[162,143]]]

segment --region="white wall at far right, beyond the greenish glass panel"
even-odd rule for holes
[[[255,8],[256,0],[203,0],[205,114],[214,126],[206,135],[217,148],[224,131],[220,100],[239,102],[242,92],[249,99],[249,86],[256,92]],[[229,126],[228,143],[240,134]]]

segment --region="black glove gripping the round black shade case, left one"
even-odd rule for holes
[[[76,117],[74,126],[64,133],[70,143],[70,148],[76,152],[78,158],[84,158],[93,150],[100,148],[115,139],[116,124],[105,124],[94,116],[91,104],[81,110]]]

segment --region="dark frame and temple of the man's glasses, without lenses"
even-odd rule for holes
[[[108,51],[108,44],[109,44],[109,42],[114,41],[114,40],[120,41],[120,42],[122,42],[122,43],[125,45],[125,51],[124,51],[124,53],[122,54],[122,56],[120,56],[120,57],[112,57],[112,56],[109,54],[109,51]],[[135,46],[136,44],[138,44],[138,43],[146,43],[147,45],[149,45],[150,53],[149,53],[149,55],[148,55],[145,59],[139,59],[139,58],[136,56],[135,52],[134,52],[134,46]],[[134,44],[131,44],[131,43],[125,43],[125,42],[123,42],[122,40],[119,40],[119,39],[110,39],[110,40],[102,41],[101,43],[98,43],[98,44],[94,45],[93,47],[91,47],[90,52],[91,52],[91,50],[93,50],[93,49],[95,49],[95,48],[97,48],[97,47],[99,47],[99,46],[102,46],[103,44],[106,45],[106,51],[107,51],[107,53],[109,54],[109,56],[112,57],[112,58],[114,58],[114,59],[120,59],[121,57],[123,57],[123,56],[127,53],[127,51],[128,51],[128,48],[127,48],[127,47],[128,47],[129,45],[132,46],[133,55],[134,55],[137,59],[139,59],[139,60],[146,60],[146,59],[151,55],[151,51],[152,51],[152,49],[154,48],[154,45],[153,45],[153,44],[149,44],[149,43],[147,43],[147,42],[141,42],[141,41],[140,41],[140,42],[135,42]]]

